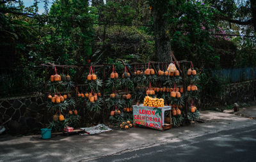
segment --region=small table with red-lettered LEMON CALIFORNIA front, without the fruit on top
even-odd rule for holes
[[[170,111],[169,114],[172,114],[172,107],[145,107],[140,104],[133,105],[132,108],[134,126],[141,125],[162,131],[172,128],[172,120],[169,123],[164,122],[164,112]],[[170,119],[172,119],[171,115]]]

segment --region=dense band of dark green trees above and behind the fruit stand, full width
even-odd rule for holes
[[[171,50],[202,67],[255,63],[253,38],[215,35],[254,36],[252,0],[57,0],[42,15],[38,2],[1,2],[1,66],[166,61]]]

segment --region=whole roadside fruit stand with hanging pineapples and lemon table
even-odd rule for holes
[[[131,121],[164,130],[199,117],[195,107],[199,78],[191,61],[42,66],[47,113],[53,115],[50,126],[56,131],[104,122],[107,117],[119,122],[120,129],[131,128],[132,124],[123,123]],[[157,119],[147,112],[154,112]]]

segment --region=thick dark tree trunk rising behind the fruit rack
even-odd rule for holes
[[[166,1],[157,1],[152,8],[154,20],[154,40],[156,47],[156,57],[158,61],[170,61],[171,41],[168,36],[167,17],[164,13],[168,10]],[[166,7],[163,7],[166,6]]]

